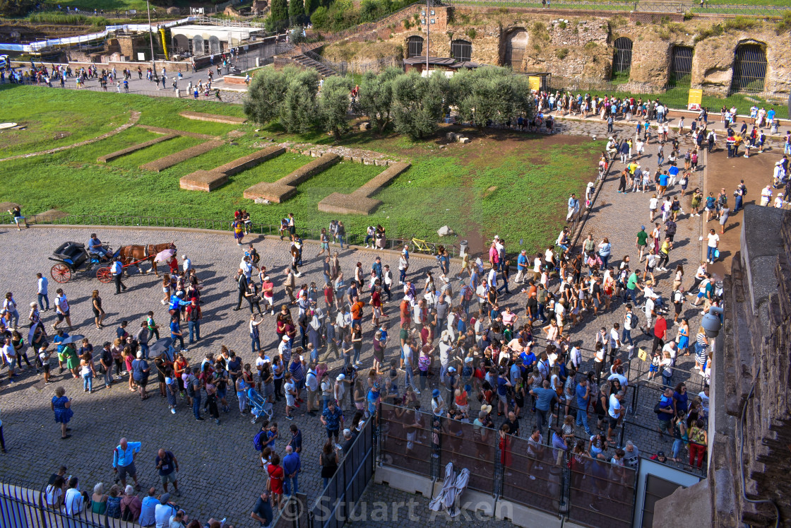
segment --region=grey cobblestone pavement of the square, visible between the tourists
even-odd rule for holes
[[[584,124],[586,129],[596,127],[594,123]],[[649,154],[640,161],[642,165],[649,165],[653,169],[656,145],[651,145],[646,150]],[[615,164],[615,169],[619,169],[619,164]],[[702,173],[698,172],[696,178],[702,177],[701,175]],[[699,182],[693,181],[691,187],[698,184]],[[616,187],[617,179],[609,177],[604,184],[599,202],[596,203],[589,225],[586,226],[586,231],[594,233],[597,239],[609,237],[614,247],[614,258],[630,254],[634,262],[637,257],[634,251],[634,236],[641,223],[648,223],[647,202],[650,195],[642,193],[619,195],[615,192]],[[672,192],[678,192],[678,189],[673,188]],[[684,208],[688,210],[686,200]],[[298,221],[299,215],[297,215]],[[694,264],[700,256],[698,236],[701,223],[700,218],[687,218],[686,215],[679,221],[679,234],[676,237],[676,249],[672,252],[671,264],[674,267],[676,264],[685,266],[687,272],[685,286],[691,283]],[[199,279],[205,286],[202,292],[202,299],[205,302],[202,340],[195,347],[191,347],[187,354],[191,364],[199,362],[206,351],[217,352],[221,344],[226,344],[239,352],[244,362],[252,363],[253,356],[249,348],[246,325],[248,313],[244,310],[240,312],[231,310],[237,301],[233,273],[242,254],[229,234],[52,227],[36,227],[18,233],[16,230],[3,228],[0,231],[0,240],[7,249],[16,250],[6,251],[0,255],[0,268],[4,272],[0,288],[3,289],[2,291],[14,293],[21,307],[22,321],[26,321],[28,303],[36,300],[36,272],[48,275],[49,268],[53,264],[47,260],[52,250],[66,240],[87,242],[92,231],[97,231],[100,238],[113,247],[174,240],[179,255],[187,254],[191,258],[198,269]],[[276,278],[275,283],[279,285],[282,283],[286,265],[290,260],[288,244],[279,241],[277,237],[267,238],[264,241],[253,238],[252,241],[256,241],[256,247],[263,256],[262,264],[267,265],[270,274]],[[331,249],[337,251],[339,247],[333,245]],[[315,257],[317,252],[316,245],[308,243],[305,246],[305,267],[302,268],[304,275],[300,282],[323,282],[321,260]],[[365,269],[369,269],[375,255],[376,253],[371,250],[345,249],[340,252],[342,269],[346,275],[349,275],[357,261],[362,262]],[[383,264],[390,264],[393,270],[397,269],[397,256],[394,253],[385,252],[382,254],[382,260]],[[437,269],[433,259],[414,256],[410,275],[417,279],[422,276],[422,272],[432,268]],[[456,271],[458,264],[454,263],[452,272]],[[670,291],[668,275],[669,272],[665,272],[657,277],[660,280],[659,288],[666,297]],[[164,326],[167,323],[167,312],[165,306],[161,306],[158,302],[161,298],[158,279],[151,275],[134,274],[127,279],[127,284],[130,287],[129,291],[115,296],[112,284],[101,284],[93,273],[80,272],[70,283],[62,285],[72,305],[72,321],[76,327],[74,332],[85,334],[94,345],[100,345],[104,340],[112,340],[115,337],[115,328],[119,321],[122,319],[131,321],[130,328],[134,329],[149,310],[154,310],[157,314],[157,322]],[[55,298],[57,287],[59,285],[51,280],[51,301]],[[106,329],[102,331],[94,329],[92,324],[89,296],[94,289],[100,291],[104,298],[104,308],[108,313]],[[512,291],[518,291],[517,287],[514,286]],[[278,287],[275,296],[276,306],[282,304],[283,298],[282,287]],[[517,313],[524,313],[525,300],[525,294],[514,293],[506,296],[505,302],[501,304],[512,306]],[[387,359],[390,359],[397,357],[396,298],[388,303],[386,311],[391,321],[392,344],[386,355]],[[694,310],[686,311],[687,315],[695,317],[691,322],[691,328],[696,327],[699,316]],[[366,312],[370,313],[369,310]],[[44,313],[47,327],[54,319],[51,311]],[[593,317],[587,315],[577,328],[571,329],[572,338],[581,340],[584,348],[592,349],[596,329],[600,326],[610,328],[613,322],[622,319],[621,303],[615,302],[609,312],[601,313],[595,321]],[[271,353],[276,345],[274,318],[267,316],[262,328],[264,328],[263,347]],[[372,333],[370,323],[366,323],[364,329],[364,343],[368,343]],[[646,347],[650,344],[647,338],[638,338],[638,340],[638,346]],[[589,367],[592,362],[592,352],[585,350],[584,354],[586,366]],[[625,353],[622,356],[626,359]],[[373,359],[368,347],[364,348],[362,357],[364,366],[369,367]],[[640,362],[638,360],[633,362],[631,367],[630,381],[633,383],[637,378],[635,370],[638,370],[634,363]],[[674,382],[690,378],[690,375],[683,370],[689,370],[693,365],[691,357],[682,358],[676,369]],[[333,373],[337,373],[340,363],[335,361],[330,367]],[[112,389],[104,389],[103,384],[97,379],[96,392],[86,394],[81,392],[80,381],[58,375],[57,370],[57,368],[53,370],[55,384],[51,386],[45,387],[40,378],[36,378],[36,374],[30,370],[23,372],[18,378],[19,381],[13,385],[9,385],[5,378],[0,382],[2,386],[0,407],[2,407],[6,444],[9,448],[8,454],[0,456],[0,473],[10,481],[40,483],[56,466],[66,464],[70,468],[69,473],[81,477],[85,488],[92,487],[97,481],[108,483],[112,481],[112,448],[121,436],[126,436],[128,439],[143,443],[137,465],[144,488],[150,485],[158,486],[153,458],[157,448],[166,447],[173,450],[180,460],[183,494],[179,500],[191,515],[197,515],[200,519],[207,519],[210,515],[221,517],[227,515],[229,519],[239,522],[240,526],[246,526],[247,508],[255,503],[257,491],[263,485],[263,476],[252,447],[252,437],[258,427],[250,424],[248,418],[239,415],[235,397],[229,398],[231,411],[221,416],[220,425],[209,420],[198,423],[192,417],[191,410],[182,401],[176,415],[171,415],[165,400],[157,396],[156,386],[153,387],[153,397],[147,401],[140,401],[139,397],[128,392],[126,378]],[[640,370],[647,369],[642,365]],[[700,390],[700,379],[694,375],[689,380],[692,393],[698,393]],[[49,408],[49,401],[56,386],[63,386],[66,394],[74,399],[75,413],[70,423],[74,436],[60,443],[57,442],[58,428],[53,422]],[[403,386],[401,380],[399,386]],[[653,427],[655,422],[652,412],[653,402],[656,401],[657,396],[656,390],[650,389],[645,383],[642,384],[633,409],[636,415],[630,416],[630,421]],[[430,391],[423,391],[422,399],[427,406]],[[477,403],[473,404],[476,410],[477,405]],[[346,403],[345,408],[348,420],[351,417],[350,405]],[[282,404],[278,404],[275,408],[275,420],[278,421],[285,436],[291,422],[283,418],[282,410]],[[532,415],[527,412],[523,418],[522,431],[528,431],[533,420]],[[300,487],[301,491],[308,494],[308,500],[312,500],[320,492],[320,480],[317,477],[318,449],[324,443],[324,428],[321,427],[318,418],[307,416],[304,409],[297,412],[293,424],[301,428],[305,437]],[[584,435],[583,431],[578,433],[580,436]],[[524,434],[528,433],[523,432]],[[627,424],[625,439],[634,440],[634,443],[646,454],[656,452],[658,449],[667,451],[670,446],[667,441],[657,438],[655,429],[643,429],[637,425]],[[279,440],[278,451],[282,452],[284,445],[285,441]],[[235,494],[238,498],[233,504],[227,499],[229,493]]]

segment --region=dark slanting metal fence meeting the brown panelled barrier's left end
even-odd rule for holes
[[[374,420],[368,420],[308,512],[312,528],[340,528],[357,508],[371,477],[375,459]]]

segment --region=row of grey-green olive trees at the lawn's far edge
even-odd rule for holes
[[[255,123],[278,120],[290,132],[320,129],[340,139],[349,131],[351,82],[332,76],[320,92],[318,88],[315,70],[263,68],[250,83],[244,113]],[[536,112],[528,78],[494,66],[460,70],[449,79],[441,72],[426,78],[399,68],[367,72],[355,108],[376,123],[380,133],[392,125],[413,139],[436,132],[449,111],[478,127],[513,122],[519,116],[532,120]]]

